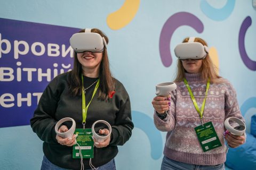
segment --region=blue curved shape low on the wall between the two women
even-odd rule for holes
[[[154,121],[145,113],[132,111],[132,121],[135,128],[141,129],[148,136],[151,148],[151,157],[159,159],[163,153],[163,140],[161,132],[155,128]]]

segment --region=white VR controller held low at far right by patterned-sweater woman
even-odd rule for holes
[[[238,124],[238,126],[235,126],[234,128],[229,124],[229,121],[234,121]],[[245,123],[241,120],[239,120],[239,118],[236,117],[229,117],[225,120],[224,122],[225,128],[232,134],[238,135],[238,136],[242,136],[245,133],[246,130],[246,126]]]

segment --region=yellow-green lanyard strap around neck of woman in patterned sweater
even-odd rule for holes
[[[199,110],[199,107],[198,107],[198,105],[197,105],[197,103],[196,103],[196,99],[195,99],[195,97],[194,97],[194,95],[193,95],[193,93],[192,93],[192,91],[191,91],[191,89],[190,89],[190,87],[189,87],[189,85],[188,85],[187,80],[186,80],[185,78],[183,78],[183,81],[184,81],[184,83],[186,84],[186,87],[187,87],[187,89],[188,89],[189,95],[190,95],[190,97],[191,97],[191,99],[192,99],[192,101],[193,101],[193,103],[194,103],[194,106],[195,106],[195,108],[196,108],[196,111],[197,111],[197,113],[199,114],[200,119],[201,119],[201,122],[202,122],[202,124],[203,124],[202,118],[203,118],[204,106],[205,106],[205,101],[206,101],[207,93],[208,93],[208,90],[209,90],[209,87],[210,87],[210,79],[207,80],[206,92],[205,92],[204,101],[203,101],[203,104],[202,104],[202,107],[201,107],[201,111]]]

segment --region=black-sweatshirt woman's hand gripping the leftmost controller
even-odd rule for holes
[[[58,130],[58,132],[61,132],[61,133],[67,132],[67,131],[68,131],[68,128],[65,125],[60,126],[60,129]],[[60,143],[60,145],[66,145],[68,147],[71,147],[76,144],[76,137],[77,137],[77,134],[73,134],[72,138],[62,138],[58,134],[56,135],[56,139],[58,143]]]

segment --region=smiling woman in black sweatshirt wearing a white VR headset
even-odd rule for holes
[[[124,145],[132,135],[129,95],[123,84],[111,76],[107,36],[99,29],[83,29],[77,34],[76,38],[81,42],[88,41],[88,46],[98,43],[102,48],[85,46],[77,50],[74,47],[77,46],[76,40],[74,45],[70,39],[74,49],[73,70],[55,77],[44,90],[30,120],[33,131],[44,141],[41,169],[115,169],[117,146]],[[65,117],[75,120],[76,130],[87,129],[90,132],[95,121],[107,121],[111,125],[111,135],[104,141],[94,138],[87,142],[86,145],[92,145],[93,154],[81,160],[77,153],[74,155],[79,133],[76,133],[78,137],[74,134],[72,138],[62,138],[54,131],[55,124]],[[58,131],[68,131],[68,125],[60,126]],[[98,134],[107,135],[109,129],[101,125]],[[81,143],[78,148],[83,148]]]

